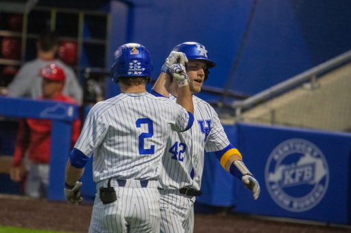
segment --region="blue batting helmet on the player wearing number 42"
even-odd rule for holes
[[[210,74],[210,70],[208,69],[216,66],[215,62],[208,59],[208,52],[205,49],[205,46],[197,42],[184,42],[182,44],[178,44],[173,48],[172,51],[185,53],[186,57],[189,60],[200,59],[200,60],[206,61],[207,68],[206,70],[204,70],[205,72],[204,81],[208,79],[208,75]]]

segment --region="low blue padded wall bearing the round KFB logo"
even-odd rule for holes
[[[234,211],[351,223],[351,133],[237,124],[225,131],[261,186],[258,200],[206,153],[197,202]]]

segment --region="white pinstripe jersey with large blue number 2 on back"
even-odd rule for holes
[[[172,130],[184,131],[186,109],[143,92],[119,94],[89,111],[75,148],[94,153],[95,182],[116,177],[158,180],[161,157]]]

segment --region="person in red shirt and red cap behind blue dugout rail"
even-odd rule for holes
[[[65,74],[56,64],[49,64],[39,70],[43,78],[43,96],[39,100],[55,100],[77,104],[73,98],[62,95]],[[80,120],[75,120],[72,127],[72,147],[80,135]],[[51,120],[25,119],[19,122],[14,159],[10,169],[10,178],[15,182],[23,179],[21,165],[27,156],[27,180],[25,195],[29,197],[47,197],[49,184],[49,163],[51,145]]]

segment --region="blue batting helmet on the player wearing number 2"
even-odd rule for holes
[[[114,52],[114,64],[111,66],[111,77],[118,83],[119,77],[152,77],[152,61],[145,46],[136,43],[123,44]]]

